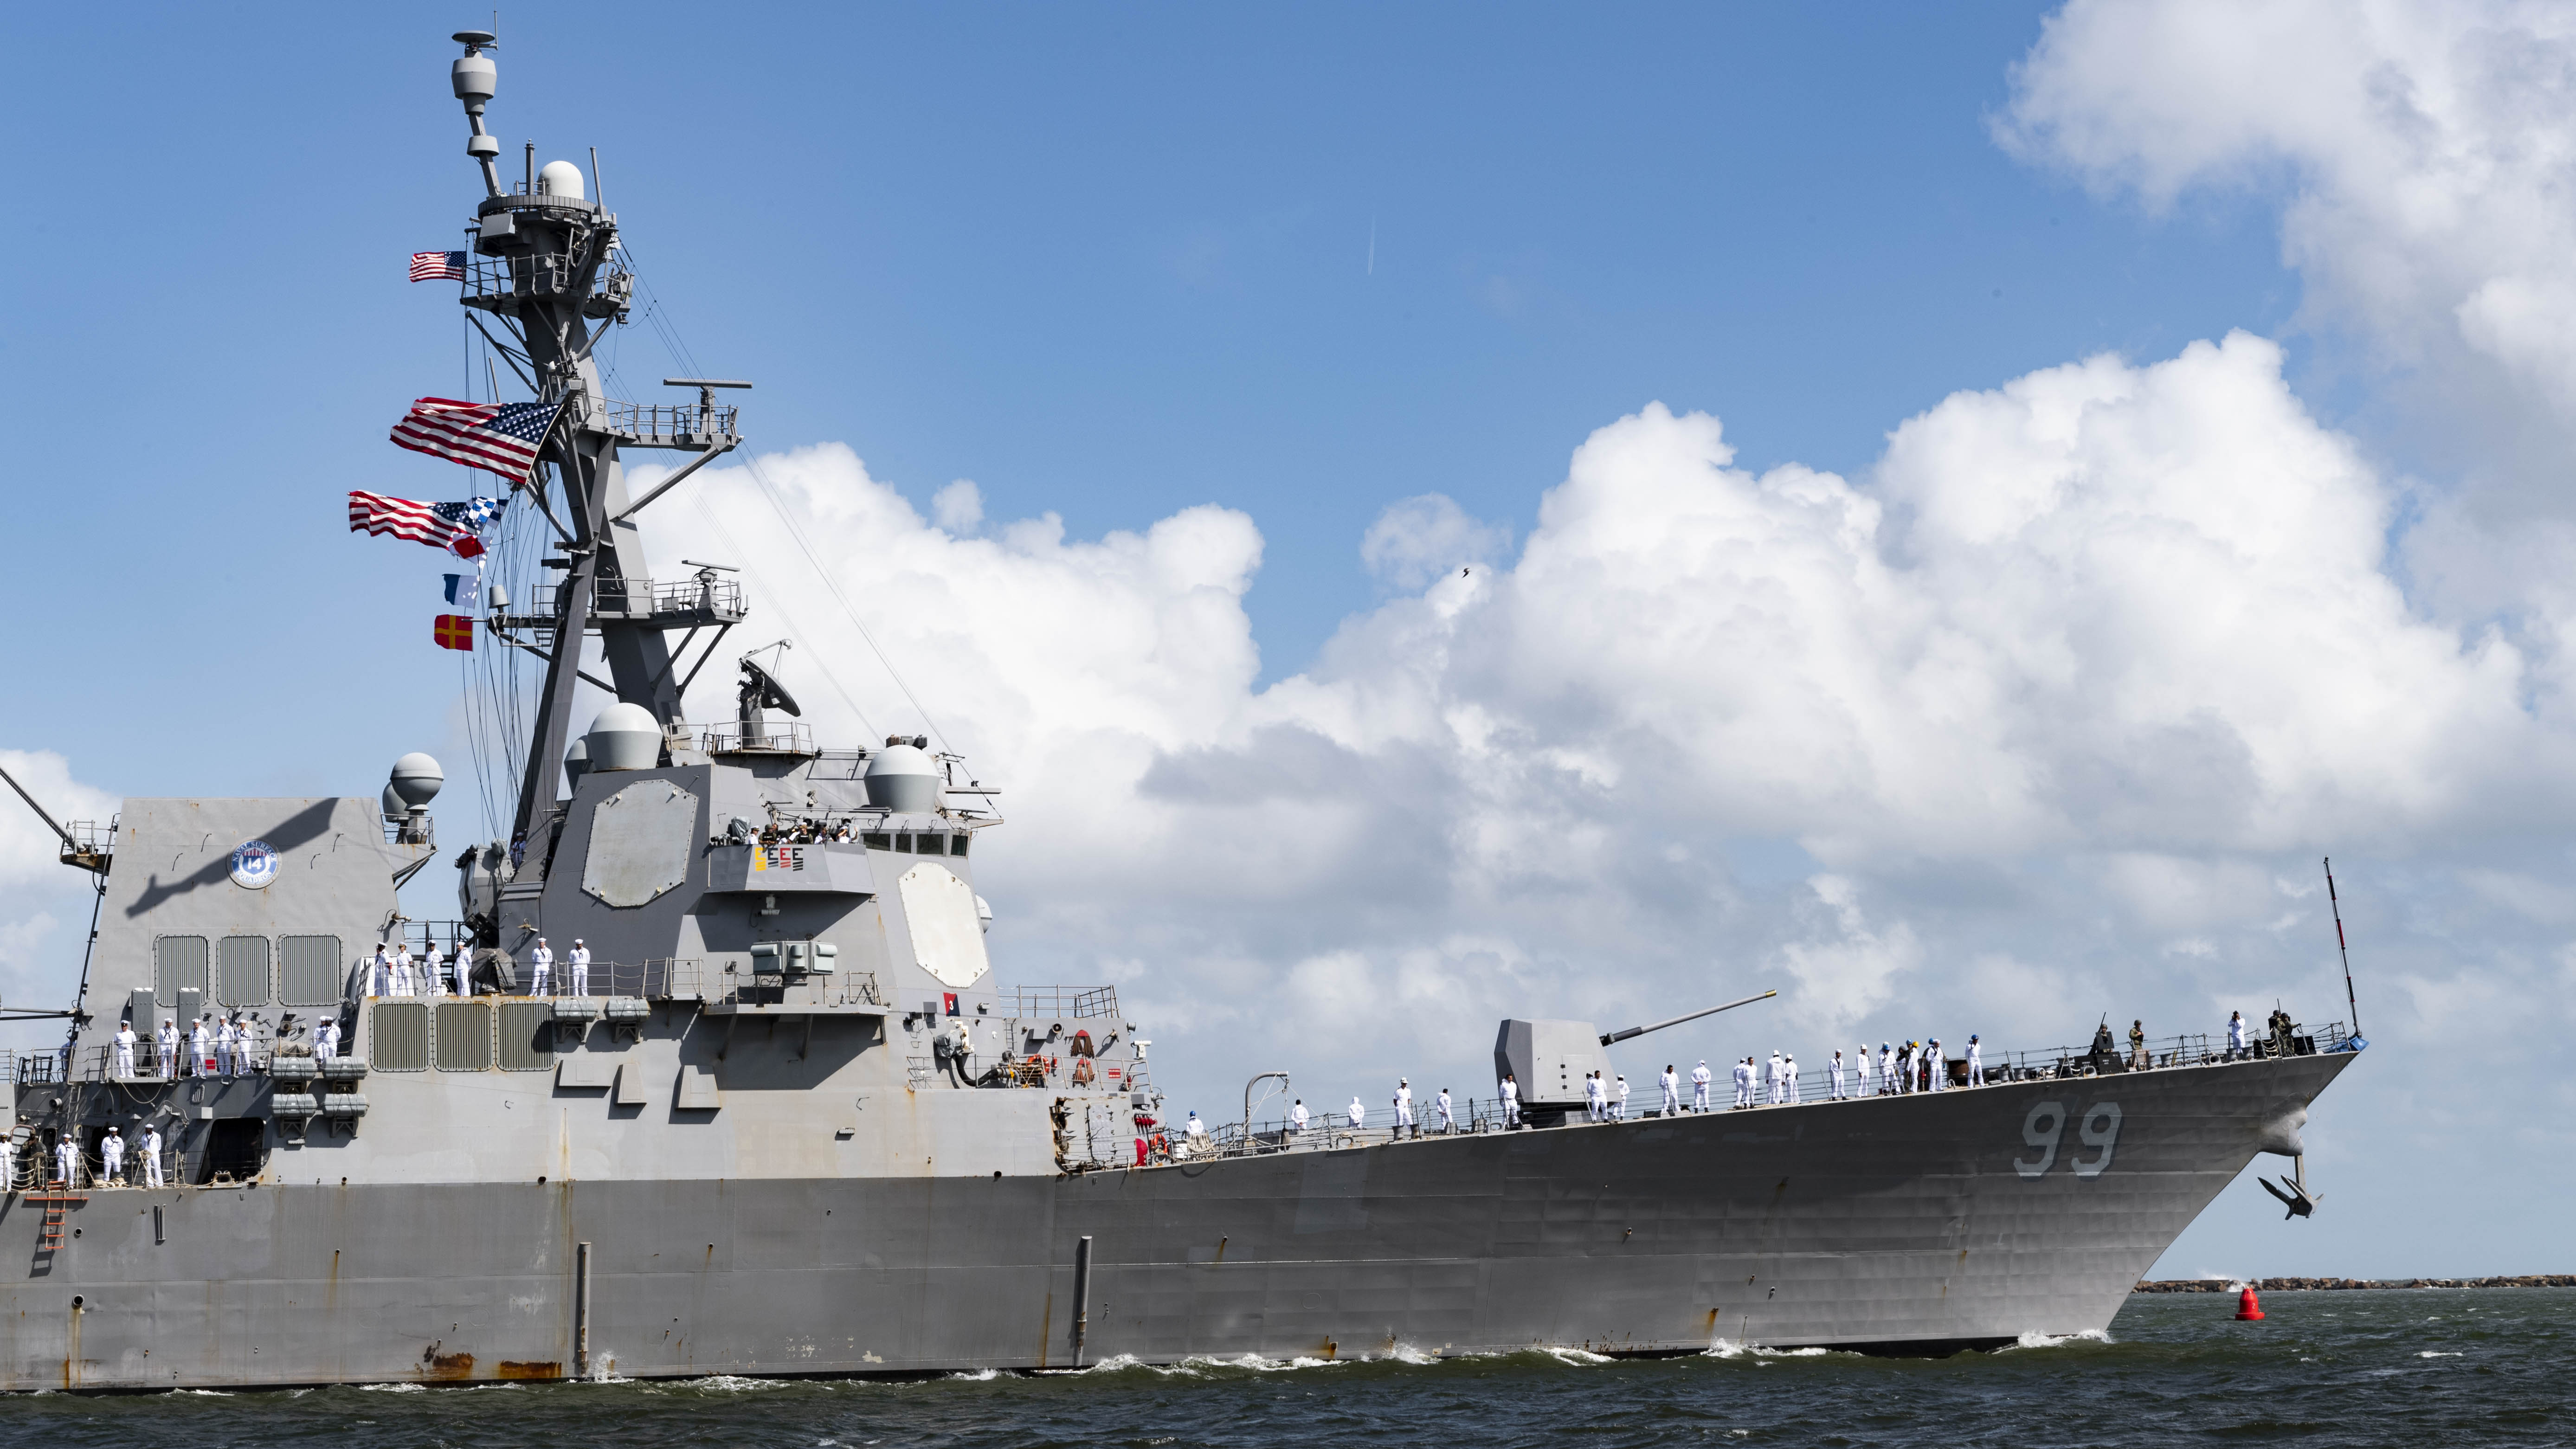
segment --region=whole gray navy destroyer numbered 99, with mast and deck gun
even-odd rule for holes
[[[1110,987],[997,985],[999,815],[966,761],[814,740],[757,652],[729,719],[683,717],[750,608],[726,565],[652,578],[639,529],[739,446],[739,384],[603,389],[634,273],[598,162],[528,147],[505,178],[492,36],[456,41],[482,199],[422,266],[526,400],[495,374],[397,441],[502,474],[505,529],[549,552],[551,583],[440,624],[544,663],[510,828],[440,846],[417,753],[374,797],[54,822],[98,926],[67,1044],[0,1093],[0,1387],[1996,1346],[2105,1328],[2354,1062],[2287,1018],[2105,1031],[1981,1080],[1927,1060],[1602,1122],[1610,1036],[1507,1021],[1512,1104],[1257,1122],[1247,1088],[1242,1122],[1175,1129]],[[631,495],[647,449],[680,467]],[[353,495],[479,547],[482,511],[399,503]],[[616,701],[577,730],[582,681]],[[456,920],[402,913],[433,864]]]

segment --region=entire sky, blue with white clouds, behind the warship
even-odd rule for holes
[[[1015,789],[1005,975],[1115,980],[1167,1078],[1226,1096],[1262,1026],[1309,1101],[1473,1080],[1494,1016],[1736,985],[1777,1016],[1677,1055],[2326,1018],[2334,853],[2388,1049],[2311,1129],[2334,1209],[2239,1183],[2161,1271],[2555,1271],[2576,95],[2532,57],[2576,39],[2532,15],[520,5],[492,129],[600,150],[616,392],[665,333],[757,382],[775,490],[690,492],[817,629],[817,722],[863,732],[829,660],[914,724],[760,492]],[[343,495],[469,482],[384,433],[471,382],[402,266],[479,191],[482,21],[13,23],[0,750],[113,810],[428,748],[471,833],[443,559]],[[13,1003],[88,908],[26,828]]]

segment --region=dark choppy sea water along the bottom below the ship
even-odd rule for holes
[[[562,1385],[0,1400],[0,1444],[2576,1444],[2576,1289],[2141,1294],[2107,1341],[1937,1361],[1100,1366],[930,1382]]]

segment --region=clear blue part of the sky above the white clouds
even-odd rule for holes
[[[1726,415],[1754,467],[1860,469],[1953,389],[2275,330],[2298,291],[2259,209],[2102,206],[1994,147],[2038,13],[647,5],[603,52],[595,10],[523,5],[495,126],[513,162],[603,150],[665,320],[760,384],[755,443],[840,438],[914,500],[971,477],[1077,536],[1252,511],[1278,678],[1373,601],[1386,503],[1528,531],[1649,400]],[[451,299],[402,281],[474,196],[446,46],[345,8],[21,26],[46,62],[0,366],[57,425],[13,552],[80,606],[15,645],[77,704],[21,694],[13,737],[209,789],[170,709],[428,706],[438,559],[345,536],[340,492],[456,482],[384,443],[464,371]],[[649,327],[613,356],[631,394],[672,366]],[[204,647],[216,619],[258,670]],[[319,792],[376,753],[317,730],[216,771]]]

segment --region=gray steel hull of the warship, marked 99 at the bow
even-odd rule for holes
[[[13,1196],[0,1387],[569,1377],[585,1287],[621,1377],[1994,1346],[2107,1328],[2349,1062],[1074,1176],[100,1189],[54,1250]]]

